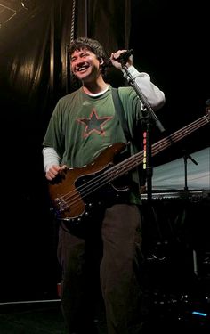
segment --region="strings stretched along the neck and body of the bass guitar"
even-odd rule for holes
[[[205,125],[208,121],[209,120],[207,120],[206,116],[199,118],[197,121],[194,121],[189,126],[184,126],[181,130],[177,130],[174,134],[163,138],[158,143],[154,143],[154,145],[152,145],[152,154],[155,155],[159,151],[163,151],[166,147],[170,146],[172,142],[175,143],[179,141],[179,138],[182,138],[183,134],[184,136],[190,134],[195,129]],[[108,181],[113,181],[117,177],[124,175],[125,171],[131,170],[133,167],[138,166],[142,162],[142,156],[143,151],[137,153],[129,159],[126,159],[125,161],[120,162],[116,166],[110,167],[109,170],[103,172],[102,175],[98,175],[93,180],[90,180],[87,183],[79,186],[77,188],[76,197],[74,194],[76,190],[74,190],[69,191],[67,194],[61,196],[60,200],[63,201],[63,203],[65,202],[65,205],[69,203],[70,205],[76,205],[80,201],[80,195],[84,198],[93,191],[100,189],[103,185],[108,183]],[[71,193],[73,194],[73,196],[71,196]]]

